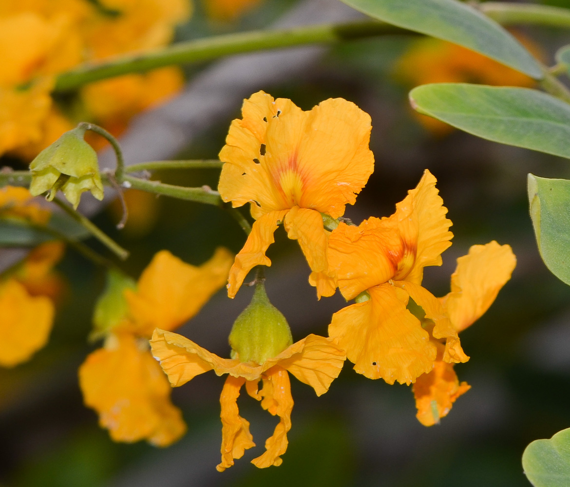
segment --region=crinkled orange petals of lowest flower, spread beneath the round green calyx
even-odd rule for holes
[[[266,451],[252,463],[259,468],[280,465],[280,455],[287,449],[293,407],[287,372],[310,385],[320,396],[339,375],[345,359],[344,351],[332,339],[317,335],[308,335],[262,364],[220,358],[188,338],[159,329],[154,331],[150,346],[173,387],[209,370],[214,370],[217,375],[229,374],[220,398],[222,461],[216,467],[219,472],[233,465],[234,459],[241,458],[246,449],[255,446],[249,421],[239,416],[237,406],[243,384],[247,394],[259,400],[264,410],[280,418],[273,435],[265,443]],[[260,380],[262,387],[259,389]]]

